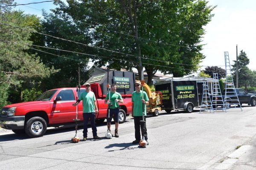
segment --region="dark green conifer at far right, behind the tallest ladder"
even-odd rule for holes
[[[236,60],[233,60],[233,80],[236,83]],[[250,63],[250,59],[247,57],[245,51],[241,50],[239,56],[237,57],[237,65],[238,65],[238,81],[239,87],[244,86],[245,90],[247,90],[248,85],[255,85],[256,82],[256,74],[255,71],[251,71],[247,65]]]

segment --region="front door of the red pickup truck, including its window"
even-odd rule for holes
[[[73,122],[76,119],[76,107],[72,105],[76,102],[73,89],[58,91],[57,96],[61,96],[61,101],[51,104],[50,120],[52,123]]]

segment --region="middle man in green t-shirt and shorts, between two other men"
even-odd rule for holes
[[[109,99],[109,93],[106,95],[105,98],[105,104],[110,105],[109,106],[109,117],[107,115],[107,127],[110,131],[111,126],[111,120],[112,117],[115,121],[115,137],[119,137],[118,134],[118,126],[119,126],[119,105],[118,103],[123,103],[122,96],[118,92],[116,92],[116,85],[111,85],[111,91],[110,91],[110,99]],[[108,114],[108,113],[107,113]]]

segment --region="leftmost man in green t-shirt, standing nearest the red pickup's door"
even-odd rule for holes
[[[85,91],[82,92],[79,96],[79,99],[76,103],[73,103],[73,106],[76,106],[79,104],[80,101],[83,101],[83,118],[84,118],[84,130],[83,130],[83,141],[87,140],[87,124],[91,122],[91,127],[93,130],[93,139],[100,139],[99,136],[97,136],[97,128],[95,125],[95,119],[96,115],[99,111],[96,105],[96,98],[94,93],[90,90],[90,84],[85,84]]]

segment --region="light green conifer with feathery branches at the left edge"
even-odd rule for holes
[[[11,88],[21,90],[19,88],[23,83],[40,82],[57,72],[53,67],[46,67],[36,53],[28,53],[28,44],[32,43],[29,41],[31,32],[20,28],[34,30],[31,26],[38,24],[38,17],[23,14],[22,11],[6,10],[0,13],[0,86],[5,91]]]

